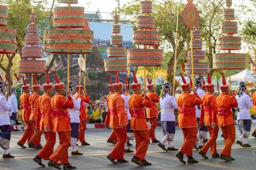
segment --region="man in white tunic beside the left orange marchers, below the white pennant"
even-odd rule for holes
[[[78,139],[78,131],[79,131],[79,115],[80,115],[80,103],[81,103],[81,98],[77,98],[77,101],[74,97],[75,94],[75,85],[72,82],[69,82],[69,91],[70,91],[70,96],[73,99],[74,103],[74,108],[69,109],[69,116],[70,116],[70,127],[71,127],[71,155],[83,155],[83,153],[78,152],[75,147],[76,147],[76,142]]]

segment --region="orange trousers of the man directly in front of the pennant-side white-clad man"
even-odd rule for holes
[[[68,158],[68,149],[70,146],[70,140],[71,140],[71,131],[60,131],[58,132],[59,136],[59,146],[58,148],[53,152],[53,154],[49,157],[50,160],[52,160],[54,163],[57,163],[60,160],[60,164],[68,164],[69,158]]]

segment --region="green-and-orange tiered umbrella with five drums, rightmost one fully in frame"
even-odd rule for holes
[[[246,68],[246,54],[231,53],[231,50],[241,50],[241,37],[233,36],[238,33],[237,22],[234,20],[234,9],[231,9],[232,0],[226,0],[228,8],[223,9],[221,31],[227,36],[218,38],[218,50],[227,50],[227,53],[218,53],[213,56],[214,70],[229,70],[229,85],[231,86],[231,70]]]

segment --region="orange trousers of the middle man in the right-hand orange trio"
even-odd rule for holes
[[[218,133],[219,133],[219,126],[216,126],[215,129],[212,128],[212,126],[207,126],[207,129],[210,133],[210,138],[209,140],[205,143],[205,145],[203,146],[203,148],[201,149],[201,151],[203,153],[207,153],[208,149],[211,147],[211,154],[216,154],[217,150],[216,150],[216,139],[218,137]]]

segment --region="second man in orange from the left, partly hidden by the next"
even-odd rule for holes
[[[30,141],[28,142],[28,147],[34,148],[34,149],[43,148],[43,146],[40,143],[43,132],[39,130],[40,118],[37,119],[37,115],[38,115],[37,111],[39,107],[38,98],[40,97],[40,93],[41,93],[41,85],[37,83],[37,79],[35,78],[35,75],[34,75],[33,94],[30,95],[29,97],[29,104],[31,106],[31,114],[29,117],[29,121],[31,121],[34,124],[35,133],[33,137],[30,139]],[[36,124],[38,124],[38,126],[36,126]]]

